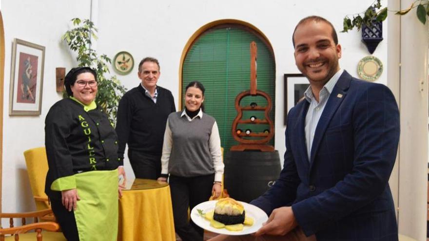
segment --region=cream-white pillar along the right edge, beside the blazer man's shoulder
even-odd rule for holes
[[[401,0],[409,6],[413,0]],[[401,17],[399,232],[426,240],[428,206],[428,23]],[[409,108],[412,106],[412,108]],[[410,141],[412,140],[412,141]]]

